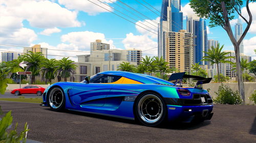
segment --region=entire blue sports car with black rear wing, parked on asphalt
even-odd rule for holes
[[[182,87],[183,78],[198,80],[195,87]],[[174,73],[169,80],[154,76],[105,71],[82,82],[57,82],[43,94],[43,106],[137,120],[146,126],[163,121],[210,120],[212,99],[203,83],[211,78]],[[170,82],[172,81],[172,82]],[[173,83],[174,81],[174,83]]]

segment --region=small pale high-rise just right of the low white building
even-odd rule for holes
[[[138,65],[142,60],[142,51],[138,49],[128,49],[127,50],[127,61],[136,62]]]

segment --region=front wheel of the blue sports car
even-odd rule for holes
[[[61,88],[55,87],[47,96],[51,110],[61,111],[65,109],[65,94]]]

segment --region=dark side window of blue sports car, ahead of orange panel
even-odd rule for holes
[[[108,75],[108,74],[98,74],[91,78],[91,83],[111,83],[120,79],[122,76],[118,75]]]

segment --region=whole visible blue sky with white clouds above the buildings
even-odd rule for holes
[[[90,1],[121,15],[142,27],[145,26],[141,23],[157,30],[156,23],[159,22],[160,13],[151,8],[158,15],[153,13],[135,0],[121,0],[121,2],[141,12],[147,16],[147,18],[116,0],[101,0],[104,4],[97,0]],[[111,3],[111,1],[114,3]],[[137,1],[150,8],[150,6],[145,4],[142,0]],[[161,0],[145,1],[157,10],[161,10]],[[181,10],[183,11],[184,16],[187,13],[193,12],[188,3],[188,0],[181,1]],[[116,4],[122,6],[126,10],[129,10],[142,19],[118,7]],[[114,7],[116,10],[112,10],[107,5]],[[255,3],[250,5],[251,8],[256,7]],[[253,23],[251,25],[251,30],[245,37],[244,45],[245,53],[256,59],[256,55],[253,52],[253,49],[256,49],[256,10],[251,10]],[[118,11],[134,18],[135,20],[119,13]],[[231,21],[233,28],[234,23],[236,23],[236,19],[237,16]],[[140,21],[138,22],[138,20]],[[143,28],[136,26],[134,23],[126,21],[109,11],[103,10],[86,0],[1,1],[0,21],[4,21],[0,24],[0,44],[21,46],[41,44],[42,47],[47,47],[49,49],[59,49],[59,51],[48,50],[48,53],[53,55],[75,56],[78,54],[88,54],[90,50],[90,42],[93,42],[96,39],[101,39],[103,42],[110,43],[111,48],[117,49],[139,48],[147,50],[157,47],[157,35],[144,30]],[[185,22],[186,21],[184,19],[184,29],[186,29]],[[206,19],[206,23],[208,25],[209,20]],[[246,23],[243,22],[243,28],[245,28],[245,26]],[[149,27],[145,28],[150,29]],[[153,30],[151,31],[154,32]],[[220,26],[209,28],[208,39],[218,40],[221,45],[224,44],[224,50],[233,50],[233,46],[226,32]],[[0,46],[0,50],[22,52],[21,47],[11,46]],[[82,50],[85,52],[61,50]],[[145,54],[152,56],[157,55],[157,48],[147,50],[144,52],[144,55]],[[49,56],[49,58],[60,59],[62,56]],[[74,61],[77,60],[76,58],[71,59]]]

